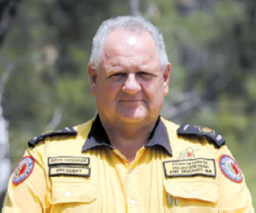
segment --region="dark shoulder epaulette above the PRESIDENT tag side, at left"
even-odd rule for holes
[[[46,137],[53,137],[53,136],[76,136],[77,131],[73,127],[65,127],[64,129],[58,131],[49,131],[39,136],[32,138],[30,141],[27,142],[29,147],[34,148],[40,141],[44,140]]]

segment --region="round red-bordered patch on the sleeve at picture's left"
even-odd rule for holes
[[[23,157],[13,172],[13,184],[18,185],[25,181],[34,169],[34,159],[30,156]]]

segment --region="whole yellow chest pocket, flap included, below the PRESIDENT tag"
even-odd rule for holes
[[[96,212],[98,187],[88,182],[52,181],[51,212]]]

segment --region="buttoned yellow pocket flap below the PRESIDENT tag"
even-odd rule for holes
[[[97,198],[97,186],[93,183],[52,183],[53,204],[65,202],[89,203]]]

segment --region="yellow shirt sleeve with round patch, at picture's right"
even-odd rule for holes
[[[245,183],[245,176],[225,145],[217,150],[216,162],[219,212],[253,213],[252,198]]]

